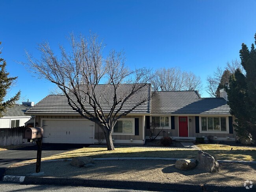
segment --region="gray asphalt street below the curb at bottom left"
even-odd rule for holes
[[[0,181],[0,192],[146,192],[131,189],[96,188],[84,186],[20,185]],[[147,191],[148,192],[148,191]]]

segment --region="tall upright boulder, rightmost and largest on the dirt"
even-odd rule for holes
[[[206,172],[217,172],[220,170],[219,163],[208,153],[198,151],[197,153],[197,168]]]

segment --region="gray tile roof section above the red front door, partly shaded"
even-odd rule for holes
[[[230,114],[224,98],[200,98],[197,91],[155,92],[152,114]]]

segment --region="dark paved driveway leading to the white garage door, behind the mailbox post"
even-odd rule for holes
[[[43,144],[42,158],[88,146],[89,144]],[[37,145],[26,146],[15,150],[0,151],[0,181],[2,181],[6,168],[11,166],[11,164],[36,159],[36,157]]]

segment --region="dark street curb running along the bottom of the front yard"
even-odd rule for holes
[[[13,179],[13,180],[12,180]],[[143,181],[115,181],[115,180],[96,180],[67,177],[24,177],[24,176],[4,176],[4,181],[19,182],[24,185],[66,185],[66,186],[89,186],[116,189],[150,190],[150,191],[183,191],[195,192],[206,189],[208,192],[234,192],[246,191],[243,186],[221,186],[221,185],[194,185],[177,183],[154,183]]]

